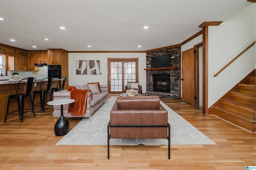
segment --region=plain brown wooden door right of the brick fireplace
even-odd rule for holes
[[[194,48],[182,52],[182,101],[194,105]]]

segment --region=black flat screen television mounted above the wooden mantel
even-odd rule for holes
[[[162,55],[151,58],[151,68],[171,67],[171,55]]]

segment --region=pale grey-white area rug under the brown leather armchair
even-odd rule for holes
[[[110,110],[116,99],[108,99],[94,114],[92,121],[84,118],[66,134],[56,145],[107,145],[107,125]],[[171,145],[216,144],[175,113],[162,101],[168,111],[168,123],[171,126]],[[110,139],[110,145],[168,145],[167,139]]]

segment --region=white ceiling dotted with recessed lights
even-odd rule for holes
[[[247,0],[0,0],[0,18],[5,19],[0,21],[0,43],[26,50],[145,51],[182,43],[199,32],[203,22],[224,21],[250,4]]]

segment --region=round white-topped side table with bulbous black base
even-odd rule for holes
[[[60,105],[60,118],[54,126],[54,133],[56,136],[63,136],[69,132],[69,122],[63,116],[63,105],[73,103],[74,101],[74,99],[60,99],[49,101],[47,103],[48,105]]]

